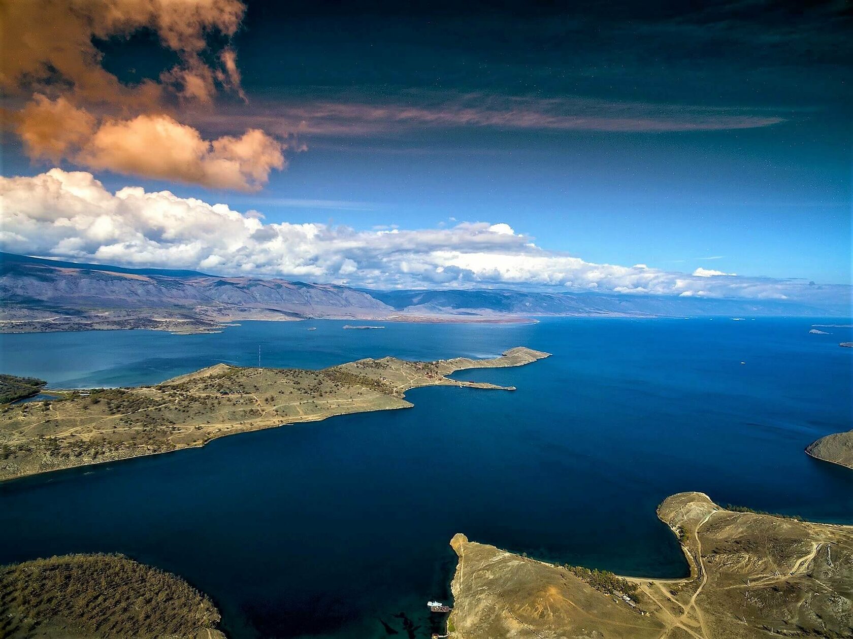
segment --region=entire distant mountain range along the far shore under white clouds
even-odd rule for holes
[[[515,290],[374,291],[194,270],[130,269],[0,253],[0,331],[218,330],[303,318],[507,321],[537,316],[826,316],[776,301]]]

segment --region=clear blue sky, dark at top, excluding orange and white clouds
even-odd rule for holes
[[[261,212],[264,224],[508,224],[538,249],[587,263],[850,284],[843,3],[692,13],[681,3],[577,3],[560,13],[233,2],[240,20],[212,18],[224,35],[207,30],[201,53],[142,24],[96,38],[97,62],[127,86],[152,78],[169,88],[158,74],[176,61],[213,69],[211,102],[166,96],[138,112],[169,113],[205,140],[257,127],[285,145],[284,170],[273,160],[259,181],[241,174],[223,189],[85,148],[34,153],[7,131],[3,175],[58,166],[89,171],[110,192],[168,189]],[[240,72],[230,80],[216,57],[226,49]],[[38,91],[24,87],[8,104]],[[100,102],[73,103],[118,117]],[[242,178],[255,180],[251,192]]]

